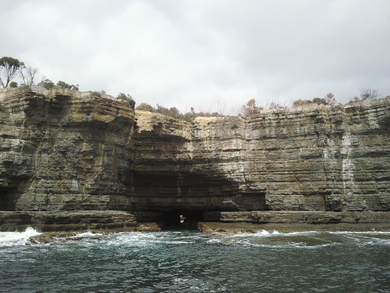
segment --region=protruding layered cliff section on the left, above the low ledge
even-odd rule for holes
[[[131,188],[133,108],[92,92],[0,91],[0,209],[116,209]]]

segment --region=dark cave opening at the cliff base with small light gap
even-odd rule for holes
[[[164,229],[195,229],[203,221],[203,210],[169,210],[161,213]]]

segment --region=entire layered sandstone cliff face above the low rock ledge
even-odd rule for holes
[[[188,123],[32,86],[0,127],[2,210],[390,210],[390,98]]]

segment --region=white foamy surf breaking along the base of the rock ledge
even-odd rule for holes
[[[0,247],[31,244],[29,238],[39,235],[29,227],[23,232],[0,232]],[[162,232],[118,232],[112,234],[86,231],[73,236],[54,238],[52,244],[79,243],[88,248],[99,245],[101,248],[133,247],[148,249],[155,246],[191,245],[197,242],[221,245],[238,245],[268,248],[321,248],[339,244],[390,245],[390,232],[383,231],[295,231],[258,230],[256,233],[220,234],[183,231]],[[50,244],[49,244],[50,245]]]

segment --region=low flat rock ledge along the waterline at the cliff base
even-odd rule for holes
[[[390,231],[390,212],[205,212],[204,218],[204,221],[188,221],[170,228],[224,234],[256,233],[261,230]],[[158,221],[137,222],[136,215],[117,210],[0,211],[0,231],[23,231],[27,227],[41,232],[30,238],[33,244],[78,240],[90,236],[90,233],[156,232],[168,228]],[[85,232],[90,233],[80,235]]]

